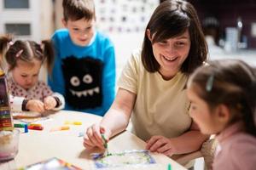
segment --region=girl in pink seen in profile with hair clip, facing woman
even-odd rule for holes
[[[256,167],[256,71],[238,59],[209,62],[188,82],[189,115],[201,133],[217,134],[212,169]]]

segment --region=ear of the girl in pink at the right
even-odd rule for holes
[[[223,123],[225,125],[228,122],[230,122],[231,113],[227,105],[223,105],[223,104],[218,105],[218,111],[216,114],[217,114],[218,122]]]

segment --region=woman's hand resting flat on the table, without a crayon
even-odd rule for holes
[[[153,136],[149,139],[147,141],[146,150],[162,153],[166,156],[172,156],[176,152],[172,139],[167,139],[163,136]]]

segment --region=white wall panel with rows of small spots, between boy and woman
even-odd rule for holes
[[[144,31],[159,0],[96,1],[98,28],[107,32]]]

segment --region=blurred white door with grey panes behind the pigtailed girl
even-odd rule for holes
[[[0,33],[40,41],[55,30],[52,0],[1,0]]]

